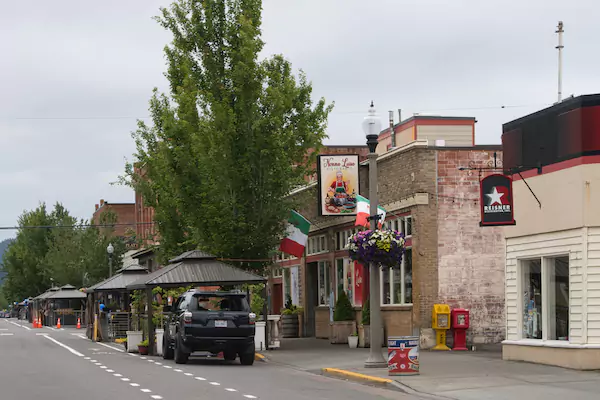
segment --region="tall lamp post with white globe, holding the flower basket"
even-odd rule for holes
[[[371,215],[371,230],[376,230],[379,220],[378,198],[377,198],[377,138],[381,132],[381,120],[375,113],[375,107],[371,102],[369,107],[369,115],[365,117],[363,122],[363,130],[367,136],[367,146],[369,146],[369,201]],[[383,345],[382,321],[381,321],[381,300],[379,286],[380,282],[379,266],[370,263],[369,265],[369,296],[370,296],[370,312],[371,312],[371,348],[369,349],[369,358],[365,361],[365,368],[386,368],[387,362],[383,358],[381,347]]]

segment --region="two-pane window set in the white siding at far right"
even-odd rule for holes
[[[521,261],[525,339],[569,340],[569,257]]]

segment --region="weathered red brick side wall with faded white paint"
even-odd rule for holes
[[[503,228],[479,226],[479,171],[458,168],[493,167],[494,151],[501,167],[498,148],[437,151],[439,301],[470,310],[474,343],[497,343],[505,335],[505,241]]]

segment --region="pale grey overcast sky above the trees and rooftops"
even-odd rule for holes
[[[151,17],[169,3],[2,2],[0,226],[41,201],[83,218],[101,198],[133,202],[110,182],[165,87],[169,36]],[[398,108],[476,117],[477,143],[499,143],[502,123],[556,101],[558,20],[565,97],[600,92],[598,15],[597,0],[264,0],[264,53],[335,101],[327,144],[364,143],[371,100],[384,121]]]

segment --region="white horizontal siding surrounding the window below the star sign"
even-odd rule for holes
[[[600,230],[598,231],[600,245]],[[569,255],[569,341],[582,343],[584,327],[582,315],[585,302],[585,287],[583,279],[585,264],[583,263],[583,230],[544,233],[531,236],[508,238],[506,240],[506,338],[521,339],[522,302],[519,276],[519,260],[543,256]],[[600,255],[600,254],[599,254]],[[600,274],[600,259],[598,259]],[[600,275],[598,277],[600,285]],[[600,292],[598,293],[598,309],[600,311]],[[600,314],[598,314],[600,322]],[[600,334],[600,327],[598,329]]]

